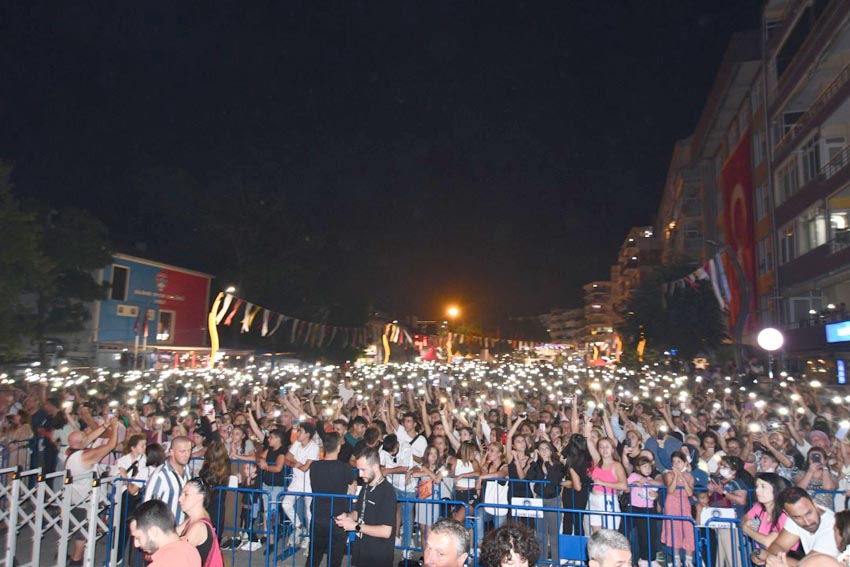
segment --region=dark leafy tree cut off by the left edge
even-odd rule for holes
[[[52,268],[35,216],[22,211],[12,196],[13,169],[0,161],[0,360],[23,354],[23,339],[33,330],[25,294]]]

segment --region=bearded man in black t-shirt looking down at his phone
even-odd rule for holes
[[[352,551],[355,567],[393,567],[396,497],[392,485],[381,474],[378,450],[368,448],[357,457],[357,472],[366,485],[354,510],[336,517],[336,525],[355,532]]]

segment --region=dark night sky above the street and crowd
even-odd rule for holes
[[[473,317],[607,278],[761,2],[85,4],[0,5],[22,197],[120,233],[141,167],[251,170],[371,259],[378,306]]]

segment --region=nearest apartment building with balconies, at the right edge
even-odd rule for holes
[[[763,46],[770,175],[755,213],[769,230],[756,263],[778,293],[759,300],[792,352],[840,351],[824,324],[850,301],[850,2],[768,2]]]

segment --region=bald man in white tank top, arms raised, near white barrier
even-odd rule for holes
[[[103,445],[88,447],[91,439],[96,439],[109,432],[109,438]],[[65,470],[71,473],[71,514],[78,521],[85,521],[88,513],[79,505],[91,492],[92,475],[97,471],[97,464],[118,446],[118,420],[111,420],[86,435],[82,431],[74,431],[68,436],[68,460]],[[74,538],[69,567],[83,564],[83,554],[86,550],[86,530],[79,530]]]

